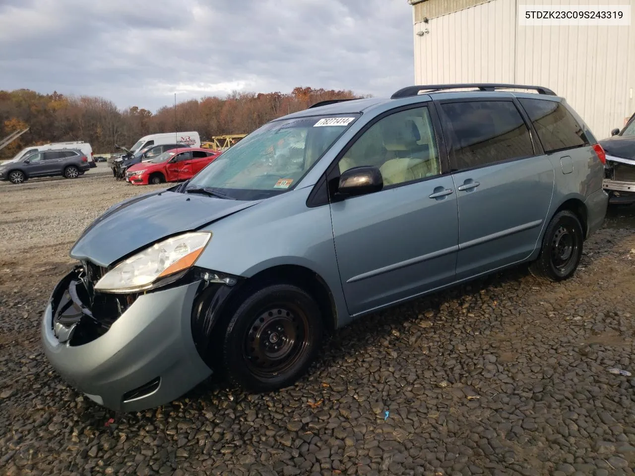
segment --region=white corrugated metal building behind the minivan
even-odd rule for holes
[[[635,0],[408,0],[415,84],[514,83],[566,98],[598,139],[635,112]],[[519,8],[627,5],[628,26],[519,24]],[[540,8],[537,8],[540,10]]]

